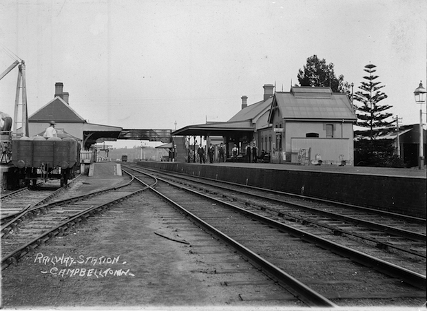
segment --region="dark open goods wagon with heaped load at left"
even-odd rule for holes
[[[80,149],[74,138],[24,136],[12,140],[13,184],[29,186],[38,179],[60,179],[61,186],[67,184],[79,169]]]

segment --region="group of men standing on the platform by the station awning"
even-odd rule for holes
[[[203,148],[202,144],[198,147],[197,154],[200,160],[200,164],[205,163],[205,149]],[[215,154],[215,148],[212,146],[212,144],[207,147],[207,156],[209,158],[209,163],[213,163],[213,156]],[[265,153],[264,150],[261,152],[261,156],[258,157],[258,147],[256,147],[255,142],[252,144],[248,144],[246,147],[246,156],[244,158],[245,162],[248,163],[256,163],[258,160],[264,159],[264,156],[267,153]],[[237,144],[234,144],[233,148],[231,149],[231,160],[233,162],[238,162],[238,156],[239,156],[239,149],[237,147]],[[221,142],[220,146],[218,147],[218,162],[225,162],[225,146]]]

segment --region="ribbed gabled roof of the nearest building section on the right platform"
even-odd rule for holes
[[[275,108],[285,120],[357,120],[346,94],[333,93],[329,87],[295,86],[291,92],[275,92],[269,122]]]

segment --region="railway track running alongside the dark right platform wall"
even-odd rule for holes
[[[156,171],[148,171],[156,175]],[[426,219],[174,173],[161,175],[230,200],[240,208],[426,274]]]

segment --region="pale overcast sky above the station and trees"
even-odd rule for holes
[[[425,0],[2,0],[0,73],[8,52],[25,61],[29,115],[62,82],[88,122],[179,129],[229,120],[264,84],[289,91],[316,54],[355,91],[377,65],[382,103],[411,124],[427,85],[426,17]],[[0,81],[11,116],[17,73]]]

